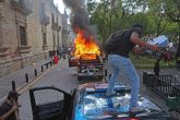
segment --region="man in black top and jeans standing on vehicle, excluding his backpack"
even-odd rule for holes
[[[112,39],[118,39],[116,45],[113,43],[113,49],[107,50],[108,52],[108,63],[112,70],[111,77],[109,80],[109,85],[106,92],[106,96],[111,96],[115,94],[113,87],[115,83],[122,72],[128,76],[131,85],[131,98],[130,98],[130,112],[139,112],[142,109],[137,106],[139,93],[140,93],[140,76],[129,58],[129,52],[142,52],[144,48],[151,49],[153,51],[159,51],[157,45],[149,45],[140,39],[143,33],[143,27],[141,24],[134,24],[130,29],[124,31],[121,35],[111,35]],[[118,37],[116,37],[118,36]],[[112,43],[111,43],[112,44]],[[139,47],[136,47],[139,45]],[[106,48],[106,44],[105,44]],[[106,51],[105,51],[106,52]]]

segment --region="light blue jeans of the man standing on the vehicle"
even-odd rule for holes
[[[108,62],[111,67],[112,74],[109,81],[109,87],[107,92],[113,92],[115,83],[119,79],[120,72],[122,72],[130,80],[131,85],[131,99],[130,108],[137,106],[139,93],[140,93],[140,76],[129,58],[119,55],[109,55]]]

